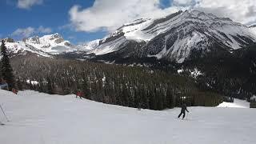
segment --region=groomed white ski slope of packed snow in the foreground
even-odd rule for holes
[[[111,106],[74,95],[34,91],[18,95],[0,90],[3,114],[1,144],[252,144],[256,143],[256,110],[222,107],[137,110]]]

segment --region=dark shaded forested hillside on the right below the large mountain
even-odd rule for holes
[[[186,69],[197,67],[204,73],[198,77],[203,89],[240,99],[250,99],[256,94],[256,45],[233,53],[194,58],[182,66]]]

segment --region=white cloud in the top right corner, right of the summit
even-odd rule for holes
[[[256,22],[255,0],[174,0],[172,6],[186,6],[246,25]]]

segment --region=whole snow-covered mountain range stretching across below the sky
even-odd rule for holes
[[[202,57],[210,52],[231,52],[255,42],[255,25],[244,26],[230,18],[186,10],[163,18],[141,18],[126,23],[105,38],[83,45],[73,46],[60,34],[50,34],[22,41],[9,38],[6,46],[13,54],[30,51],[42,56],[78,54],[79,58],[87,58],[84,55],[88,54],[103,59],[154,57],[182,63],[194,54]]]

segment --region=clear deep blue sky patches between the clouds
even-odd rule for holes
[[[90,7],[94,0],[44,0],[42,4],[31,6],[29,9],[21,9],[17,6],[17,1],[0,0],[0,14],[4,21],[0,22],[0,34],[2,38],[21,36],[11,35],[18,28],[25,29],[27,27],[38,28],[43,26],[50,28],[51,33],[59,33],[71,42],[86,42],[96,38],[102,38],[106,32],[86,33],[72,30],[65,27],[70,23],[68,14],[70,8],[74,5],[80,5],[83,8]],[[50,34],[51,34],[50,33]],[[35,35],[44,35],[38,33]]]

